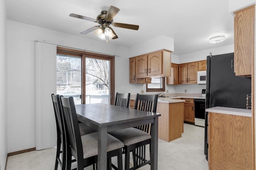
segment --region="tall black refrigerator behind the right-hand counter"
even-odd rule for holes
[[[236,76],[234,53],[207,56],[206,109],[235,107],[246,109],[246,95],[251,96],[251,78]],[[208,112],[205,114],[204,154],[208,160]]]

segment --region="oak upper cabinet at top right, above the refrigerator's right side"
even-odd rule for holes
[[[254,57],[255,5],[234,14],[234,72],[236,76],[250,77]]]

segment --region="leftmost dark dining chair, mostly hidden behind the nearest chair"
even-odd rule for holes
[[[56,119],[56,128],[57,128],[57,150],[56,150],[56,160],[55,160],[54,170],[58,169],[58,164],[60,164],[60,167],[62,170],[66,169],[66,135],[65,135],[65,129],[64,129],[63,114],[62,114],[62,109],[60,105],[60,97],[63,97],[63,96],[62,95],[60,96],[58,94],[57,95],[52,94],[52,103],[54,106],[54,115]],[[86,135],[89,133],[96,132],[94,129],[90,128],[87,125],[84,125],[83,123],[79,123],[78,126],[79,126],[81,135]],[[75,160],[73,160],[73,162],[74,161]]]

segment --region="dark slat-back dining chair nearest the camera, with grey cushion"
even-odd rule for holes
[[[87,135],[80,135],[78,130],[78,119],[73,97],[61,98],[64,126],[67,129],[67,165],[71,168],[71,158],[74,156],[77,161],[77,170],[84,170],[84,167],[97,163],[98,158],[98,132]],[[118,157],[118,170],[122,170],[122,147],[124,144],[115,137],[107,134],[107,158]],[[107,168],[107,167],[106,167]],[[108,165],[111,169],[111,165]]]

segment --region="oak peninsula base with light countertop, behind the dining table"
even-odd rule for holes
[[[133,98],[130,100],[130,108],[134,108]],[[158,118],[158,138],[170,142],[181,137],[183,133],[185,100],[172,98],[159,98],[156,113]]]

